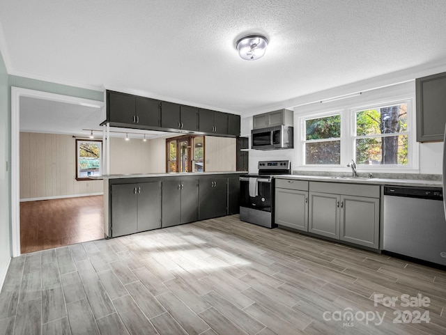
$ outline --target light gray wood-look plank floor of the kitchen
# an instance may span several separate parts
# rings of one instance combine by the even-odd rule
[[[444,335],[445,307],[446,272],[233,215],[13,258],[0,334]]]

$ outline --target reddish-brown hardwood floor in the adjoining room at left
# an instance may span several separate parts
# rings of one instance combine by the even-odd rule
[[[22,254],[101,238],[104,238],[103,196],[20,203]]]

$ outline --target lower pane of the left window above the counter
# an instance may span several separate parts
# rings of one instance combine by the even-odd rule
[[[305,143],[305,164],[340,164],[341,141]]]

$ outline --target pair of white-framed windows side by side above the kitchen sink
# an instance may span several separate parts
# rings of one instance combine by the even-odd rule
[[[413,100],[345,107],[300,117],[301,166],[414,169]]]

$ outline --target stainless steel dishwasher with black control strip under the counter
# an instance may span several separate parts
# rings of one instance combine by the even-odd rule
[[[383,249],[446,265],[441,187],[384,187]]]

